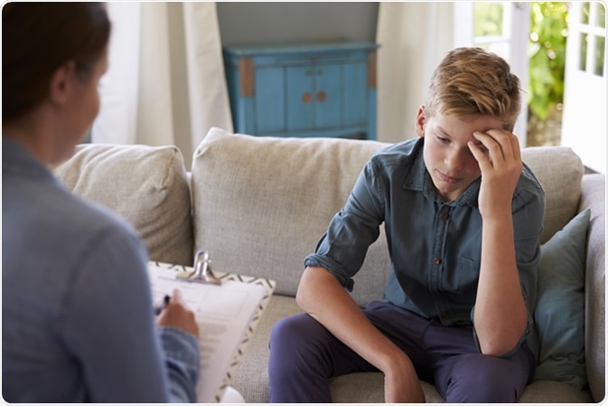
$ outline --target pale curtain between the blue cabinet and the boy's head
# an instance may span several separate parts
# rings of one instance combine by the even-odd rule
[[[381,2],[379,5],[378,139],[416,137],[416,111],[436,65],[454,47],[453,4]]]

